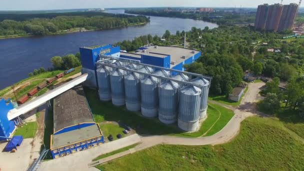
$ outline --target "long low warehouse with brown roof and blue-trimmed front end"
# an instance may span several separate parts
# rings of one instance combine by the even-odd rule
[[[53,102],[53,134],[50,151],[53,158],[69,155],[104,143],[84,96],[82,85],[60,94]]]

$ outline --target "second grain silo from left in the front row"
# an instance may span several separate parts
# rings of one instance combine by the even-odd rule
[[[118,68],[113,68],[110,72],[112,103],[117,106],[125,103],[123,74],[124,71]]]

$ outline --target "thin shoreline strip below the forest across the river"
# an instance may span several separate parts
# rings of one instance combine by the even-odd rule
[[[147,24],[148,22],[140,22],[140,23],[130,23],[126,26],[119,26],[119,27],[109,27],[109,28],[97,28],[97,29],[85,29],[85,30],[80,30],[81,28],[71,28],[74,30],[71,31],[64,31],[64,30],[59,30],[59,31],[63,31],[63,32],[55,32],[55,33],[51,33],[51,34],[46,34],[46,35],[40,35],[40,36],[48,36],[48,35],[60,35],[60,34],[68,34],[68,33],[74,33],[74,32],[86,32],[86,31],[96,31],[96,30],[104,30],[104,29],[112,29],[112,28],[125,28],[128,26],[136,26],[136,25],[144,25]],[[0,36],[0,39],[9,39],[9,38],[20,38],[20,37],[34,37],[37,35],[7,35],[7,36]]]

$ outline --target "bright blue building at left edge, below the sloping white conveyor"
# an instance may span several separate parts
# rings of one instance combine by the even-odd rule
[[[15,129],[14,122],[7,119],[7,112],[12,108],[13,105],[10,101],[6,102],[4,98],[0,99],[0,136],[9,137]]]

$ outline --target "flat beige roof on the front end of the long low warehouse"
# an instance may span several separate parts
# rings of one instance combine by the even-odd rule
[[[68,144],[76,143],[96,136],[100,136],[101,132],[97,124],[82,127],[72,131],[53,135],[51,148],[58,148]]]

